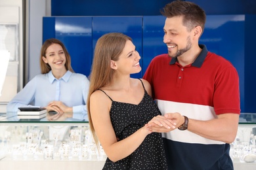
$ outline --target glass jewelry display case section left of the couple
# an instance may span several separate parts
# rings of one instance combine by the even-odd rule
[[[0,169],[102,169],[106,154],[96,148],[89,123],[49,121],[0,114]]]

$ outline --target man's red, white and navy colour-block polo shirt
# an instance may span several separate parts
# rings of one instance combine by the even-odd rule
[[[152,59],[143,78],[150,82],[161,113],[180,112],[196,120],[211,120],[223,113],[240,114],[236,69],[230,61],[209,52],[206,46],[200,45],[200,48],[202,52],[194,63],[184,67],[178,63],[177,58],[170,58],[168,54]],[[205,139],[179,129],[163,133],[163,139],[167,161],[179,161],[179,165],[193,163],[194,168],[198,169],[207,169],[220,163],[218,161],[221,159],[227,159],[230,164],[229,156],[224,156],[228,154],[229,145],[221,141]]]

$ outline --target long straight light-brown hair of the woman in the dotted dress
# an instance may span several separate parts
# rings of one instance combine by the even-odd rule
[[[111,60],[117,61],[119,59],[127,40],[132,41],[131,37],[123,33],[107,33],[102,35],[96,42],[91,75],[89,76],[90,88],[87,99],[87,111],[91,132],[97,145],[98,138],[96,137],[95,128],[91,119],[90,97],[93,92],[104,86],[108,86],[112,81],[114,70],[110,67]],[[98,104],[100,105],[100,103]]]

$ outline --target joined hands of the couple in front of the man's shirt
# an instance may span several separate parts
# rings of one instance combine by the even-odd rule
[[[168,132],[181,126],[184,117],[179,112],[167,113],[164,116],[156,116],[150,122],[148,127],[155,132]]]

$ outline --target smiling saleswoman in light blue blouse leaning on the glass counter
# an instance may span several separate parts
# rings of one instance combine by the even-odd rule
[[[18,107],[45,107],[60,114],[81,112],[75,117],[88,120],[86,99],[89,80],[74,73],[70,54],[58,39],[47,39],[41,47],[41,74],[35,76],[7,105],[7,112]],[[77,114],[74,114],[77,115]],[[74,117],[73,117],[74,118]]]

